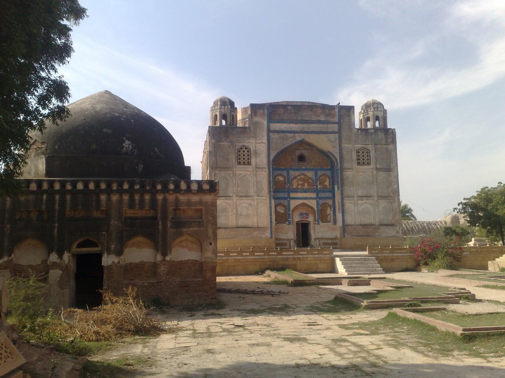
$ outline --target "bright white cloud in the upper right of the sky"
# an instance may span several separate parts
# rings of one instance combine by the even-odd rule
[[[337,91],[336,100],[360,104],[372,96],[398,109],[486,87],[505,76],[504,20],[505,2],[459,2],[447,9],[446,22],[438,30],[411,41],[412,47],[381,36],[384,46],[356,72],[354,80]],[[449,50],[443,44],[450,38],[461,43],[462,56],[475,55],[466,67],[460,67],[457,55],[448,57],[452,67],[438,65],[430,56],[433,50]]]

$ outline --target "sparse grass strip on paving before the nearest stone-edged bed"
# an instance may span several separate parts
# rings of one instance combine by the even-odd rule
[[[425,314],[425,313],[423,313]],[[504,334],[465,335],[458,337],[442,332],[423,322],[402,318],[393,312],[378,321],[352,323],[340,327],[384,336],[384,342],[395,348],[409,348],[426,356],[466,354],[479,358],[505,357]]]

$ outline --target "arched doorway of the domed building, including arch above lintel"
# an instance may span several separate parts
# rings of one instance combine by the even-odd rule
[[[79,308],[92,308],[102,304],[104,267],[102,247],[89,238],[77,241],[72,247],[72,292],[71,303]]]

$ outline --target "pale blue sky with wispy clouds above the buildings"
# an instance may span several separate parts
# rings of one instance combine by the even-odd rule
[[[505,181],[503,0],[80,0],[70,102],[109,90],[160,121],[191,175],[213,101],[361,105],[396,129],[399,190],[437,220]]]

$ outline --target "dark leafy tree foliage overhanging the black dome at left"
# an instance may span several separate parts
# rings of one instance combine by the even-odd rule
[[[29,133],[69,116],[70,90],[58,67],[73,53],[78,0],[0,0],[0,197],[17,194]]]

